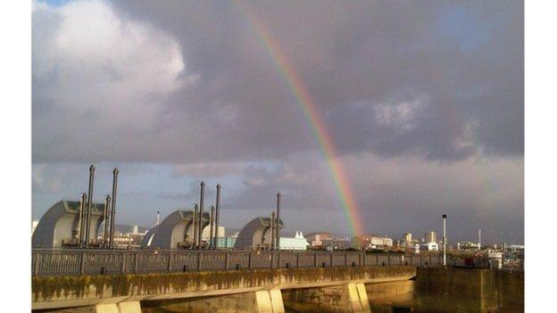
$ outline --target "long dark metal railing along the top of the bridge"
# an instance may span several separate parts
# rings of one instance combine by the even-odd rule
[[[34,276],[110,275],[245,268],[439,266],[442,256],[360,251],[33,250]]]

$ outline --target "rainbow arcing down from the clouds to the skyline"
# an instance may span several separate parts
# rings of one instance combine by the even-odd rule
[[[270,36],[269,30],[265,28],[262,21],[257,19],[245,4],[242,4],[240,1],[237,1],[236,4],[239,11],[245,16],[245,19],[249,21],[251,28],[254,29],[255,37],[269,54],[270,60],[284,79],[294,95],[296,103],[303,112],[303,117],[307,120],[312,135],[315,137],[327,161],[328,171],[335,185],[337,199],[344,210],[345,219],[352,235],[363,235],[362,218],[359,218],[360,210],[356,202],[354,202],[350,181],[346,175],[345,167],[340,161],[333,139],[320,116],[317,105],[313,102],[307,88],[303,85],[302,79],[296,74],[287,56],[280,49],[280,45]]]

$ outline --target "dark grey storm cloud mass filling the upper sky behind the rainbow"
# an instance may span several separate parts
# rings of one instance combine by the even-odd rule
[[[434,160],[461,159],[478,149],[522,155],[520,2],[245,5],[287,54],[341,153],[419,153]],[[87,83],[87,72],[63,80],[53,79],[62,75],[63,66],[40,75],[34,71],[35,161],[259,160],[317,147],[241,5],[118,1],[112,6],[121,21],[145,24],[158,29],[149,33],[175,40],[183,69],[166,77],[145,72],[169,85],[145,95],[100,88],[88,98],[67,91],[64,97],[52,96],[67,90],[69,81]],[[60,21],[52,13],[36,15],[33,40],[39,54],[48,34],[60,35]],[[451,18],[468,30],[451,28]],[[118,43],[113,49],[118,51]],[[70,58],[56,50],[52,54],[60,63]],[[41,68],[35,64],[49,61],[34,57],[34,70]],[[116,81],[130,79],[138,88],[149,82],[127,75],[126,66],[141,68],[140,63],[89,65],[82,70]],[[104,92],[108,95],[99,95]],[[119,99],[131,110],[112,109],[121,105]],[[376,107],[419,99],[424,102],[420,117],[408,117],[411,131],[379,121]],[[368,105],[354,109],[354,103]],[[95,132],[87,131],[91,128]]]

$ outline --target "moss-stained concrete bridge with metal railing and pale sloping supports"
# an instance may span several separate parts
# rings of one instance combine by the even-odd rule
[[[285,312],[282,291],[322,311],[370,312],[366,286],[409,280],[438,256],[359,251],[33,251],[32,309]],[[191,301],[195,300],[195,301]],[[286,301],[294,301],[287,299]]]

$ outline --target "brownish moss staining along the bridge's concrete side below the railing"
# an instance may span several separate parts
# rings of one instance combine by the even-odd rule
[[[107,276],[34,276],[32,299],[64,301],[412,276],[412,267],[280,268]]]

